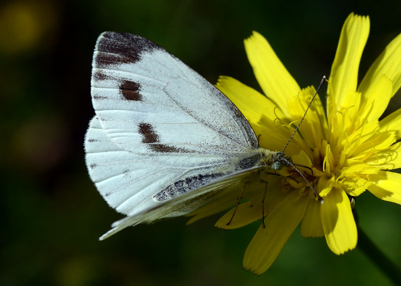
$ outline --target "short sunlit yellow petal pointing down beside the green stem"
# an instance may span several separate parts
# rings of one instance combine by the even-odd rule
[[[324,198],[320,214],[331,251],[339,255],[355,248],[358,239],[356,224],[349,199],[341,188],[331,190]]]

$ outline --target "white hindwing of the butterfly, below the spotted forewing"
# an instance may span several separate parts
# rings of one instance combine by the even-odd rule
[[[117,211],[132,215],[160,202],[219,180],[229,163],[226,158],[195,154],[153,156],[136,154],[118,147],[102,128],[91,120],[85,140],[86,163],[99,192]],[[196,156],[196,157],[195,157]]]

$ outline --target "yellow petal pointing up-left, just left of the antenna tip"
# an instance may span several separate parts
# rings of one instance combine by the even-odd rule
[[[287,100],[301,90],[266,39],[257,32],[244,41],[248,60],[266,96],[287,112]]]

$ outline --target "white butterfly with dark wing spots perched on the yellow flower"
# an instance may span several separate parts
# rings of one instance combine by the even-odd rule
[[[283,152],[259,148],[223,93],[147,39],[101,34],[92,67],[86,164],[107,203],[127,215],[100,239],[188,214],[261,170],[291,164]]]

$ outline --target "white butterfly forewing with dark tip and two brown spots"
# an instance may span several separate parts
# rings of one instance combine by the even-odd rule
[[[100,35],[92,102],[109,137],[128,151],[221,155],[258,147],[249,123],[226,96],[139,36]]]

